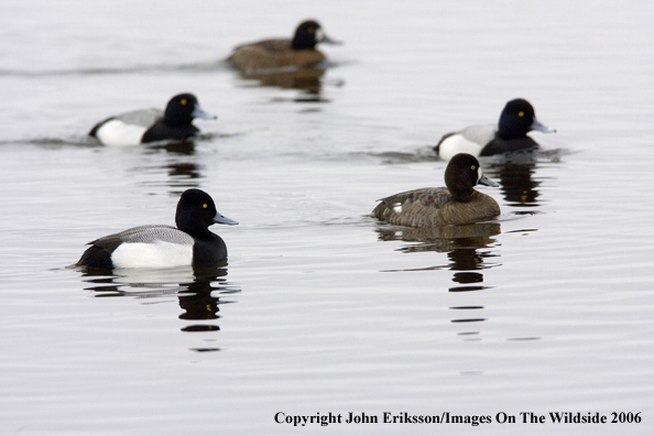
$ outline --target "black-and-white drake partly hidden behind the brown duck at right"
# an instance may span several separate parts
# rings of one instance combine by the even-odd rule
[[[527,100],[516,98],[504,106],[497,128],[493,124],[467,127],[461,131],[443,137],[434,150],[438,157],[448,161],[457,153],[490,156],[537,148],[536,141],[526,135],[531,130],[545,133],[556,132],[536,119],[534,108]]]

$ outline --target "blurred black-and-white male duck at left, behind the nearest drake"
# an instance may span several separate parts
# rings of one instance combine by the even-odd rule
[[[88,133],[105,145],[137,145],[164,140],[184,140],[199,129],[194,118],[215,120],[205,111],[193,94],[179,94],[168,101],[165,112],[160,109],[140,109],[107,118]]]

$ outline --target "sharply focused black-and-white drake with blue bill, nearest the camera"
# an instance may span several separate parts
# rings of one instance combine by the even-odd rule
[[[187,189],[177,203],[177,228],[141,226],[89,242],[76,266],[166,268],[197,265],[227,259],[222,239],[209,231],[214,222],[237,225],[216,210],[211,197],[200,189]]]

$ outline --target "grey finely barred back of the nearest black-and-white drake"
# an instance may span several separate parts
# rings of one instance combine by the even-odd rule
[[[109,252],[113,252],[121,243],[156,243],[170,242],[176,244],[193,246],[194,239],[172,226],[140,226],[134,227],[120,233],[109,235],[92,242],[91,246],[99,247]]]

